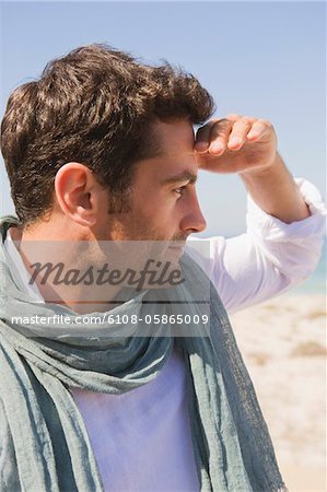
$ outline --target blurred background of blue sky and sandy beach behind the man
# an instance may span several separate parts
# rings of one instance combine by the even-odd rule
[[[2,1],[0,15],[1,117],[11,91],[38,78],[47,61],[80,45],[108,43],[147,62],[166,59],[194,73],[213,95],[217,117],[238,113],[270,119],[292,174],[326,195],[324,2]],[[0,215],[13,213],[2,161],[0,183]],[[237,176],[201,172],[198,194],[208,222],[202,236],[245,231],[246,194]],[[290,490],[326,490],[324,258],[292,297],[247,313],[258,320],[252,321],[252,331],[242,328],[242,314],[235,318]],[[268,332],[256,331],[262,325],[270,327]],[[275,347],[287,347],[289,337],[285,352],[265,349],[271,327]],[[302,462],[308,475],[300,479]]]

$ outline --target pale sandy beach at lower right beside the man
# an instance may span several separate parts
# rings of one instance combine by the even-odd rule
[[[231,321],[289,491],[326,491],[325,297],[284,294]]]

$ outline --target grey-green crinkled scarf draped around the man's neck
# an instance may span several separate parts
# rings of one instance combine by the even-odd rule
[[[92,326],[84,337],[33,336],[37,327],[13,325],[11,317],[65,314],[73,318],[77,314],[65,306],[37,304],[20,291],[2,244],[14,223],[8,218],[2,222],[0,246],[1,491],[103,491],[87,432],[69,388],[117,395],[129,391],[157,376],[174,343],[179,344],[185,360],[200,490],[287,491],[254,387],[212,284],[207,336],[196,336],[197,327],[192,327],[192,336],[183,337],[168,336],[166,330],[162,337],[138,337],[138,327],[129,337],[106,336],[105,330],[112,333],[115,329],[113,325],[102,327],[101,338],[94,337]],[[192,286],[208,278],[186,255],[183,270],[188,281],[174,288],[174,298],[178,295],[189,302],[178,305],[178,313],[197,313]],[[155,295],[165,298],[161,308],[171,314],[176,307],[168,291]],[[139,313],[149,298],[149,291],[142,292],[110,314],[117,309]],[[157,305],[152,309],[154,313]]]

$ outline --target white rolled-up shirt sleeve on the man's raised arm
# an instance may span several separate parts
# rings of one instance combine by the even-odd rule
[[[310,207],[310,218],[285,224],[260,210],[248,196],[245,234],[199,239],[210,241],[206,271],[230,313],[280,294],[314,272],[326,212],[315,186],[305,179],[296,183]]]

